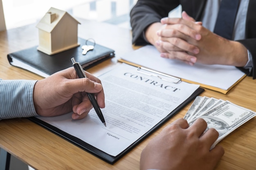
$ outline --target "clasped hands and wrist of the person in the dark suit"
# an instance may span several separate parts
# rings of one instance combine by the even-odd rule
[[[248,61],[243,44],[216,35],[184,11],[182,18],[162,18],[161,23],[151,24],[145,35],[161,57],[189,65],[198,62],[242,67]]]

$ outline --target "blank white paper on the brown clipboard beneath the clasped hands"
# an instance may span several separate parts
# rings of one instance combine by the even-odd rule
[[[160,53],[152,45],[147,45],[121,56],[128,62],[151,68],[161,73],[198,82],[223,90],[228,90],[245,75],[235,66],[204,65],[196,63],[194,66],[178,60],[160,57]]]

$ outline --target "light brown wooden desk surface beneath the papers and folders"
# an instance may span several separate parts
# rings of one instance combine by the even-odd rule
[[[117,64],[117,59],[122,54],[134,50],[131,45],[130,30],[106,23],[79,21],[82,23],[79,27],[81,38],[94,38],[98,44],[116,51],[115,58],[90,68],[88,70],[90,73],[97,75],[107,71],[110,66]],[[35,24],[0,32],[0,78],[42,79],[34,73],[9,65],[7,61],[7,53],[26,49],[37,44],[38,33]],[[227,95],[206,90],[201,96],[229,100],[256,111],[255,81],[251,77],[246,77]],[[39,170],[138,170],[141,150],[148,141],[155,137],[167,124],[177,118],[184,117],[189,106],[186,106],[168,123],[164,124],[114,165],[98,159],[26,118],[0,121],[0,147]],[[225,155],[218,163],[216,170],[255,170],[256,118],[251,119],[232,132],[220,142],[220,145],[225,148]]]

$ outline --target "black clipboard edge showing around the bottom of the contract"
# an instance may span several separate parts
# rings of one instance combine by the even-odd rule
[[[149,135],[151,135],[155,130],[160,128],[166,121],[171,119],[174,115],[176,115],[182,108],[184,108],[187,104],[189,104],[193,99],[195,99],[196,96],[200,95],[204,91],[203,88],[198,88],[188,99],[186,99],[180,106],[175,108],[170,114],[168,114],[164,119],[159,121],[158,124],[156,124],[153,128],[151,128],[148,132],[146,132],[143,136],[141,136],[137,141],[135,141],[133,144],[128,146],[125,150],[123,150],[119,155],[112,156],[107,154],[106,152],[103,152],[99,150],[98,148],[95,148],[94,146],[91,146],[90,144],[86,143],[85,141],[82,141],[81,139],[74,137],[67,132],[64,132],[63,130],[60,130],[56,128],[55,126],[52,126],[51,124],[46,123],[45,121],[42,121],[36,117],[29,117],[28,119],[33,121],[34,123],[46,128],[47,130],[53,132],[54,134],[62,137],[63,139],[66,139],[67,141],[71,142],[72,144],[80,147],[81,149],[91,153],[92,155],[102,159],[103,161],[106,161],[107,163],[114,164],[117,162],[121,157],[126,155],[130,150],[132,150],[135,146],[137,146],[141,141],[146,139]]]

